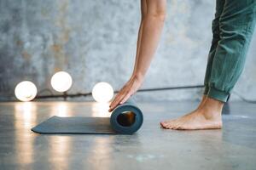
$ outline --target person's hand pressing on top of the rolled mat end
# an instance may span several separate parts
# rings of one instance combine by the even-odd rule
[[[135,94],[138,88],[141,87],[143,80],[137,77],[131,77],[131,79],[125,83],[125,86],[120,89],[119,94],[115,96],[111,104],[109,105],[108,111],[113,111],[113,109],[119,105],[125,103],[131,95]]]

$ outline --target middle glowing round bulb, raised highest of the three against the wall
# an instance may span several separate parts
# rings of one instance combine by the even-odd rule
[[[57,92],[66,92],[72,86],[72,77],[65,71],[59,71],[51,77],[50,84]]]

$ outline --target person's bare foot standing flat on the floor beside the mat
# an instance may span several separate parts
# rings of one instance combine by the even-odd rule
[[[164,128],[177,130],[217,129],[222,127],[223,103],[216,99],[205,99],[197,110],[177,119],[160,122]]]

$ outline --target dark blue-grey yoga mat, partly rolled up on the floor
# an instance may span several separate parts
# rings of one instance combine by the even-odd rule
[[[132,134],[143,125],[143,112],[132,99],[117,106],[110,117],[59,117],[33,127],[35,133],[90,133],[90,134]]]

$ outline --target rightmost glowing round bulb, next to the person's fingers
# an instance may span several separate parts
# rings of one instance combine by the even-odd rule
[[[92,88],[92,97],[97,102],[108,102],[113,98],[113,88],[108,82],[98,82]]]

